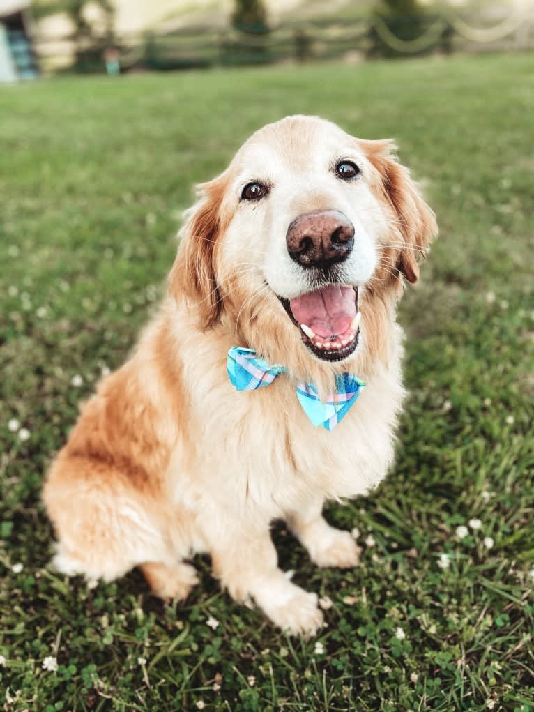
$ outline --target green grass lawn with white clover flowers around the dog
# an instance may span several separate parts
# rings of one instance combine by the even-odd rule
[[[283,568],[333,601],[308,642],[234,604],[203,559],[184,604],[137,572],[89,589],[49,571],[39,499],[78,402],[164,292],[191,184],[291,112],[396,137],[441,226],[400,310],[397,462],[328,509],[360,530],[362,565],[317,570],[274,530]],[[4,710],[533,712],[533,113],[526,55],[0,90]]]

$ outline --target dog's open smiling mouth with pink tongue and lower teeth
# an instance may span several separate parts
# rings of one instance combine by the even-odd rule
[[[330,284],[291,300],[280,300],[315,356],[324,361],[342,361],[355,350],[361,317],[357,288]]]

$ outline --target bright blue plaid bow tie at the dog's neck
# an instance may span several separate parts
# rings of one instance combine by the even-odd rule
[[[256,357],[253,349],[232,346],[228,352],[228,375],[238,391],[253,391],[268,386],[281,373],[283,366],[269,366],[263,358]],[[297,382],[297,397],[310,421],[327,430],[335,428],[355,403],[365,386],[359,378],[344,373],[335,377],[335,393],[322,401],[312,384]]]

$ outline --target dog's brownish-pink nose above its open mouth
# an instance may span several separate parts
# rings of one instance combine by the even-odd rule
[[[354,225],[338,210],[299,215],[288,227],[286,243],[291,259],[303,267],[328,267],[350,255]]]

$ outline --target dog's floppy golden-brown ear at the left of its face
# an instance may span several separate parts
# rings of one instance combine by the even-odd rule
[[[224,229],[221,203],[225,189],[224,174],[199,186],[199,199],[187,211],[185,224],[179,231],[178,253],[169,275],[169,294],[174,299],[186,296],[193,300],[204,329],[219,320],[222,310],[215,256]]]

